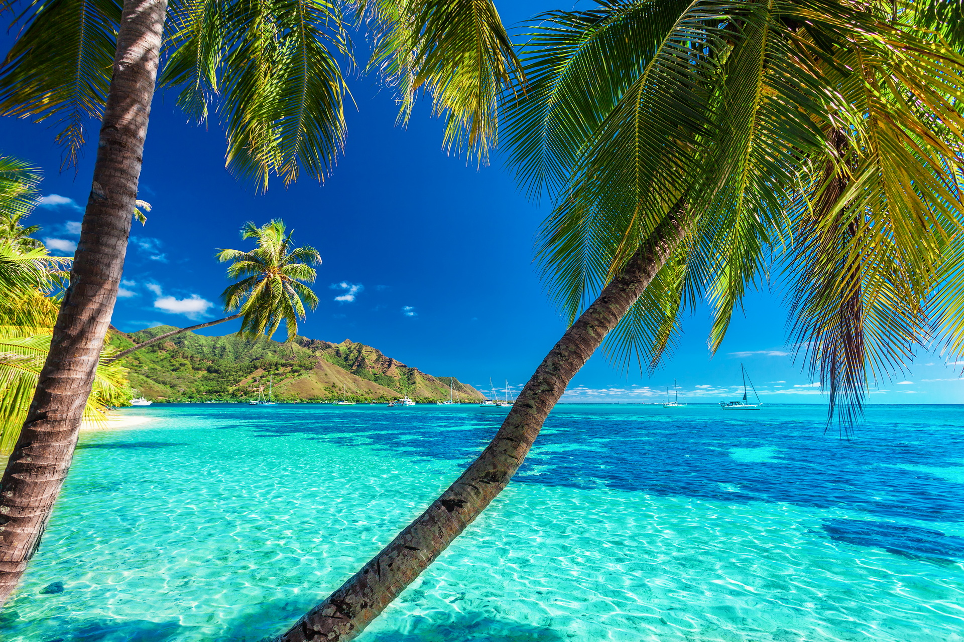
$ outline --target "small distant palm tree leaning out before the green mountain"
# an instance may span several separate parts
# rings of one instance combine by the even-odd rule
[[[281,321],[284,321],[288,341],[293,340],[298,334],[298,320],[305,320],[305,304],[312,310],[318,305],[318,296],[303,282],[314,281],[315,270],[311,265],[320,265],[321,256],[314,247],[308,245],[291,249],[292,234],[293,230],[285,234],[284,221],[281,218],[275,218],[261,227],[256,227],[252,221],[246,222],[241,227],[241,238],[254,239],[257,247],[249,252],[222,249],[217,255],[221,262],[232,262],[228,266],[228,278],[244,277],[221,293],[221,298],[225,301],[225,311],[238,312],[217,321],[165,332],[143,344],[118,352],[106,363],[113,363],[135,350],[170,339],[182,332],[200,330],[235,319],[241,319],[238,334],[265,334],[268,337],[273,336],[281,326]]]

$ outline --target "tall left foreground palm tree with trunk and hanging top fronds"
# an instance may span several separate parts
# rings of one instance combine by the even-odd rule
[[[352,17],[375,40],[370,68],[400,91],[435,99],[446,141],[484,158],[500,89],[519,61],[492,0],[373,0]],[[0,3],[9,9],[9,2]],[[76,163],[84,121],[100,119],[94,180],[51,349],[3,479],[0,603],[37,549],[67,475],[86,399],[117,300],[137,201],[162,42],[165,87],[228,134],[228,167],[266,189],[305,169],[317,179],[344,140],[339,60],[352,64],[340,3],[295,0],[123,0],[30,3],[0,68],[0,115],[60,119],[65,163]],[[165,22],[171,25],[163,39]],[[42,456],[25,453],[42,452]]]

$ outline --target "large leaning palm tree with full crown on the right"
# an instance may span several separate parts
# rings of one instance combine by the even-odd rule
[[[656,366],[709,300],[715,349],[769,253],[844,422],[929,321],[953,318],[961,340],[964,287],[928,296],[964,270],[964,58],[899,9],[610,0],[540,16],[510,158],[556,203],[538,256],[575,322],[465,473],[281,640],[358,635],[507,485],[607,335],[612,357]]]

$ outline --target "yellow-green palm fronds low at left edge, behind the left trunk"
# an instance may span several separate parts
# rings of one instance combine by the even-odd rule
[[[0,325],[0,452],[13,449],[20,427],[27,418],[40,370],[50,350],[52,327]],[[108,359],[113,348],[105,348],[101,361]],[[129,399],[127,370],[120,364],[101,363],[94,373],[94,390],[84,407],[84,419],[104,421],[108,406]]]

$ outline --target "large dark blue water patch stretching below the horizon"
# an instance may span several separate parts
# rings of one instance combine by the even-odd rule
[[[264,435],[301,434],[339,446],[364,443],[407,457],[468,463],[502,419],[487,410],[385,409],[373,423],[369,410],[379,412],[326,413],[321,422],[317,415],[304,423],[258,422],[256,429]],[[776,408],[733,418],[720,412],[700,409],[667,416],[652,406],[557,407],[516,482],[570,487],[602,482],[657,496],[788,502],[892,519],[964,520],[964,485],[898,467],[964,464],[960,410],[950,415],[951,422],[936,423],[899,424],[900,413],[891,413],[891,422],[868,421],[849,442],[824,436],[820,414],[800,419]],[[763,448],[772,453],[761,461],[732,452]],[[949,492],[949,485],[959,490]]]

